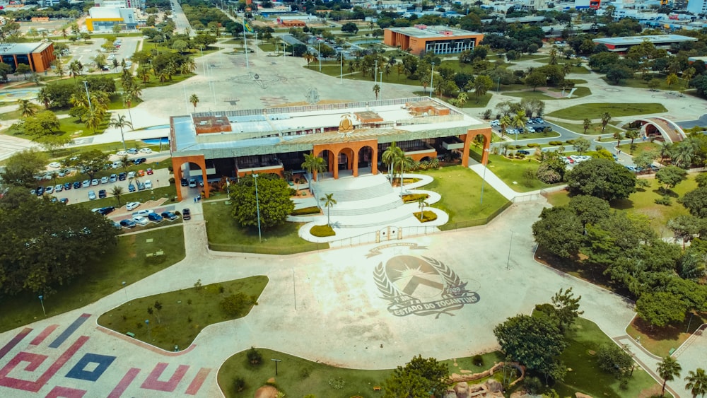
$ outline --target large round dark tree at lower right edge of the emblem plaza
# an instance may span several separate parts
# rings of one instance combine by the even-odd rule
[[[556,373],[558,357],[567,346],[560,329],[546,317],[516,315],[493,328],[501,351],[547,377]]]

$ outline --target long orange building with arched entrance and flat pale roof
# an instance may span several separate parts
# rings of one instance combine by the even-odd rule
[[[302,171],[305,154],[321,157],[325,177],[377,174],[382,153],[395,142],[413,160],[460,156],[489,124],[428,97],[327,105],[201,112],[170,118],[175,178],[207,182],[255,173]],[[488,151],[484,151],[486,163]],[[316,178],[315,174],[315,178]],[[206,197],[209,185],[204,184]],[[177,196],[182,199],[180,189]]]

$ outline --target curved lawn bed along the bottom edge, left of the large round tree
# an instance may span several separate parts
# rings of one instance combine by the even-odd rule
[[[371,350],[380,349],[378,347],[368,347]],[[277,388],[284,392],[287,397],[303,397],[307,394],[314,394],[315,397],[382,397],[382,392],[374,392],[373,387],[380,387],[385,379],[390,377],[392,369],[382,370],[361,370],[336,368],[320,362],[308,361],[298,356],[291,356],[279,351],[269,349],[257,349],[263,361],[260,365],[250,365],[247,360],[247,350],[236,353],[226,360],[218,370],[218,386],[226,397],[254,397],[255,390],[265,385],[271,377],[275,379]],[[316,351],[312,351],[316,355]],[[269,358],[281,359],[278,367],[278,375],[275,376],[275,368]],[[493,363],[503,361],[503,355],[498,351],[486,353],[482,356],[484,365],[479,367],[472,363],[472,358],[456,358],[455,360],[441,361],[446,363],[450,373],[461,374],[462,370],[469,370],[478,373],[490,368]],[[411,358],[401,361],[409,361]],[[456,363],[456,365],[454,365]],[[242,377],[245,380],[245,388],[241,392],[235,390],[235,380]],[[343,380],[343,387],[334,390],[329,385],[329,380]]]

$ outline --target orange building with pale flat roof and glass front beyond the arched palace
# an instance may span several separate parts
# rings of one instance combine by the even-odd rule
[[[411,54],[423,52],[434,54],[455,54],[473,49],[484,40],[483,33],[469,32],[448,26],[415,25],[407,28],[386,28],[383,43],[400,47]]]

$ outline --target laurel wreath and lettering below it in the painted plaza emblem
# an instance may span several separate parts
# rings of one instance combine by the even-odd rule
[[[464,306],[464,303],[452,303],[449,305],[439,305],[438,303],[442,303],[445,299],[449,298],[471,299],[471,302],[473,303],[476,303],[479,300],[479,295],[475,292],[468,291],[467,282],[462,282],[457,273],[450,267],[447,267],[443,262],[431,257],[422,256],[422,258],[428,262],[428,264],[430,264],[430,266],[433,267],[433,269],[435,269],[445,281],[445,291],[441,294],[442,300],[431,302],[434,304],[435,308],[425,308],[424,310],[418,308],[400,313],[400,310],[409,308],[410,305],[408,303],[414,303],[414,305],[417,305],[418,307],[421,305],[427,307],[430,303],[420,303],[418,299],[413,298],[410,295],[400,293],[385,274],[385,267],[382,262],[378,263],[378,266],[373,269],[373,281],[375,282],[375,286],[378,287],[378,291],[382,293],[381,298],[390,301],[388,310],[392,312],[393,315],[436,315],[436,318],[440,317],[442,314],[454,316],[454,314],[450,313],[450,311],[459,310]],[[453,289],[450,289],[450,287],[453,287]]]

